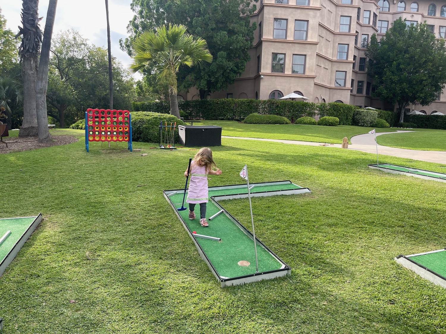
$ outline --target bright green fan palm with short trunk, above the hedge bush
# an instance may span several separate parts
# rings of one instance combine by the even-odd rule
[[[206,41],[194,38],[182,24],[161,25],[157,32],[147,31],[133,43],[134,57],[130,70],[136,73],[153,67],[157,81],[169,86],[170,114],[180,118],[177,100],[177,73],[180,65],[192,67],[202,61],[211,62]]]

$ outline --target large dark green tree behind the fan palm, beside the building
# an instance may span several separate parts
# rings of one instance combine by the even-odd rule
[[[244,72],[251,59],[256,24],[250,24],[249,14],[256,10],[251,0],[133,0],[137,13],[128,26],[132,35],[120,41],[121,48],[132,55],[132,40],[141,32],[153,30],[164,22],[183,24],[188,33],[206,40],[213,56],[211,64],[202,67],[183,67],[178,73],[180,89],[195,86],[200,98],[209,93],[226,90]],[[146,75],[153,71],[148,70]]]

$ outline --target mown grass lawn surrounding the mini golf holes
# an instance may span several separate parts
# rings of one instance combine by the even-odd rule
[[[267,128],[234,129],[223,135]],[[277,132],[264,135],[287,135]],[[196,151],[87,153],[83,131],[51,133],[81,139],[0,155],[0,218],[44,217],[0,277],[4,333],[446,333],[445,289],[393,260],[445,247],[446,183],[369,169],[376,155],[359,151],[222,138],[212,150],[223,174],[209,186],[243,183],[248,164],[250,183],[312,192],[252,198],[256,236],[291,276],[221,289],[162,194],[184,187]],[[249,228],[248,199],[222,205]]]

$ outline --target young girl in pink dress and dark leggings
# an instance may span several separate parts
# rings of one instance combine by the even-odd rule
[[[200,204],[200,225],[207,227],[206,221],[206,203],[207,197],[207,175],[220,175],[222,171],[217,168],[216,171],[212,169],[215,166],[215,162],[212,159],[212,151],[203,147],[194,156],[194,160],[190,164],[190,183],[189,190],[187,191],[186,203],[189,203],[189,219],[195,219],[195,204]],[[187,177],[188,171],[184,172],[184,176]]]

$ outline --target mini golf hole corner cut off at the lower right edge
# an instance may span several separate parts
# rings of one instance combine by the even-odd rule
[[[446,288],[446,249],[399,255],[395,260],[421,277]]]

